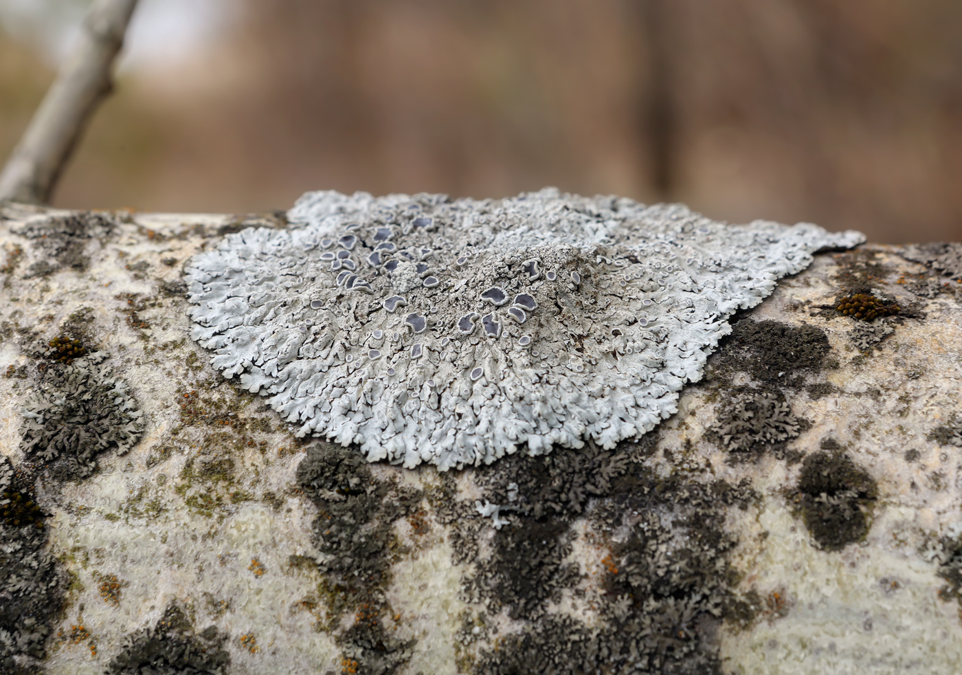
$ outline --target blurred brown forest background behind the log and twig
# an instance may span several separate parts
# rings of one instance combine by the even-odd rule
[[[0,158],[86,4],[0,0]],[[962,240],[962,2],[141,0],[55,204],[545,185]]]

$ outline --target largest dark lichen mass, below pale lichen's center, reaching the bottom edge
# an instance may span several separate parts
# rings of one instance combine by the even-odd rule
[[[749,604],[732,589],[725,532],[728,509],[754,500],[747,485],[661,478],[646,458],[656,440],[594,445],[568,453],[502,459],[479,475],[484,497],[510,521],[494,532],[490,557],[477,558],[468,599],[524,622],[499,636],[468,672],[721,673],[717,631]],[[584,597],[586,577],[566,560],[587,520],[607,549],[599,584],[606,596],[591,623],[552,605]],[[476,521],[456,524],[476,530]],[[474,536],[478,536],[477,532]],[[455,546],[459,538],[452,538]],[[583,545],[583,544],[582,544]],[[750,613],[750,611],[748,612]],[[740,618],[741,617],[741,618]]]

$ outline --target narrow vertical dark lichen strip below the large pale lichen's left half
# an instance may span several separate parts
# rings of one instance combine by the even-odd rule
[[[328,625],[342,614],[354,623],[335,640],[352,672],[390,675],[411,658],[414,640],[392,636],[383,617],[391,583],[393,523],[418,510],[421,492],[375,480],[364,457],[328,443],[314,443],[297,465],[297,484],[317,506],[313,525],[317,569],[328,584]]]

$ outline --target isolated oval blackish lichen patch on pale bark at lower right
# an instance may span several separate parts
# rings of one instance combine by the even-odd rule
[[[865,538],[877,496],[875,480],[830,439],[802,462],[796,503],[808,532],[826,551]]]

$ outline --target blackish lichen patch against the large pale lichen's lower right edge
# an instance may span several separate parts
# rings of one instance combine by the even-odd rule
[[[760,382],[797,387],[804,375],[831,365],[830,351],[825,331],[813,325],[743,319],[709,359],[708,376],[744,371]]]

